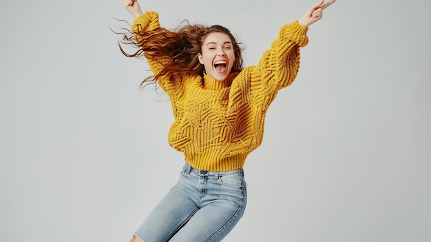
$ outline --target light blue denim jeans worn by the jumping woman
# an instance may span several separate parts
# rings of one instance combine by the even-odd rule
[[[240,221],[246,201],[242,168],[208,172],[186,163],[135,236],[146,242],[221,241]]]

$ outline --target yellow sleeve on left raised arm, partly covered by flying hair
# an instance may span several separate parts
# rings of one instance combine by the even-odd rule
[[[148,31],[157,30],[159,28],[161,27],[158,21],[158,13],[147,11],[143,15],[141,15],[140,17],[134,20],[134,25],[132,26],[132,32],[134,33],[136,41],[139,42],[142,34]],[[145,52],[144,54],[145,54],[145,59],[147,59],[149,68],[151,69],[151,72],[153,72],[154,75],[157,75],[158,73],[160,73],[162,68],[165,65],[167,65],[167,63],[171,62],[171,58],[167,56],[155,58],[154,55],[151,55],[151,52]],[[173,80],[174,80],[174,77],[171,77],[171,79],[167,77],[159,77],[157,79],[162,90],[167,92],[169,96],[171,96],[171,94],[173,94],[176,91],[176,83]]]

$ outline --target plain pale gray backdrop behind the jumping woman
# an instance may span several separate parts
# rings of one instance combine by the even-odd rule
[[[166,28],[221,24],[256,65],[317,0],[140,1]],[[174,185],[166,94],[109,28],[121,0],[1,1],[0,241],[127,241]],[[431,241],[429,1],[338,0],[245,165],[224,241]]]

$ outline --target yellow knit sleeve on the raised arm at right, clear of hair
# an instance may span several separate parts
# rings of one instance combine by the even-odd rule
[[[281,88],[291,85],[299,70],[299,48],[308,43],[308,28],[298,21],[284,25],[259,64],[249,70],[252,99],[268,108]]]

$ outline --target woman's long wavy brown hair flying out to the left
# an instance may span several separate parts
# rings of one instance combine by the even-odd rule
[[[185,26],[180,26],[174,31],[166,28],[157,28],[151,31],[143,31],[137,26],[136,33],[123,34],[123,41],[120,41],[121,52],[126,57],[147,58],[163,62],[162,70],[151,77],[147,77],[141,83],[141,87],[147,82],[156,82],[158,77],[170,77],[172,74],[200,74],[203,75],[204,66],[199,63],[198,53],[202,52],[202,43],[207,36],[212,32],[222,32],[227,34],[232,41],[233,50],[235,50],[235,62],[231,72],[240,72],[243,69],[242,49],[231,34],[231,32],[223,26],[203,26],[199,24],[191,25],[188,21]],[[131,45],[137,48],[136,52],[127,53],[123,48],[124,45]]]

